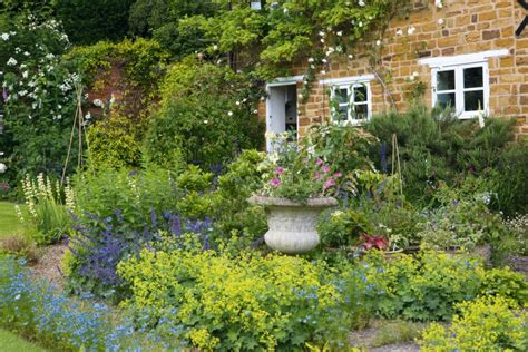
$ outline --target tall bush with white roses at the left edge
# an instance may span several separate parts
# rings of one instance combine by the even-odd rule
[[[70,47],[68,37],[59,22],[29,16],[16,20],[8,31],[2,28],[0,43],[6,124],[0,149],[10,155],[11,178],[23,173],[59,174],[79,81],[78,75],[61,62],[61,55]]]

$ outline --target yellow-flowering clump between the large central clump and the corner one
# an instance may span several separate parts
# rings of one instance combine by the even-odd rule
[[[478,295],[482,271],[475,260],[436,252],[390,261],[373,253],[365,266],[365,278],[377,287],[372,293],[382,293],[375,299],[378,313],[418,321],[449,320],[453,304]]]

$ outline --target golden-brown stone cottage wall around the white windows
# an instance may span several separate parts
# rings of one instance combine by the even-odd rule
[[[387,111],[393,101],[397,109],[403,111],[409,108],[409,94],[413,89],[409,78],[413,72],[419,75],[415,81],[426,84],[423,98],[431,106],[431,69],[420,65],[419,59],[507,49],[506,57],[488,61],[490,115],[518,117],[517,133],[528,137],[528,27],[520,37],[515,36],[526,11],[516,0],[444,0],[442,9],[436,8],[433,2],[430,0],[428,7],[412,11],[408,19],[394,19],[390,23],[379,47],[381,62],[375,68],[369,63],[370,57],[361,56],[361,50],[353,59],[332,59],[326,74],[317,75],[307,101],[299,106],[300,134],[304,135],[310,125],[330,117],[329,87],[324,87],[321,79],[374,71],[385,77],[383,72],[389,72],[391,78],[383,79],[387,91],[379,80],[370,82],[372,110],[374,114]],[[408,35],[410,27],[415,28],[412,35]],[[397,36],[399,30],[403,35]],[[303,75],[306,65],[294,66],[294,75]],[[297,89],[302,89],[302,82]],[[264,117],[265,104],[260,111]]]

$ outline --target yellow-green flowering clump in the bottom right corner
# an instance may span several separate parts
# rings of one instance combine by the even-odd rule
[[[528,313],[501,296],[479,297],[457,305],[450,327],[431,324],[419,342],[421,351],[526,351]]]

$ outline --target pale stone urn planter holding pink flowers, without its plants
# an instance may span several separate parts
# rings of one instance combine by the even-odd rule
[[[331,197],[311,198],[301,204],[286,198],[252,196],[251,204],[264,205],[268,231],[266,244],[286,254],[301,254],[314,250],[321,238],[315,228],[317,217],[327,207],[338,205]]]

